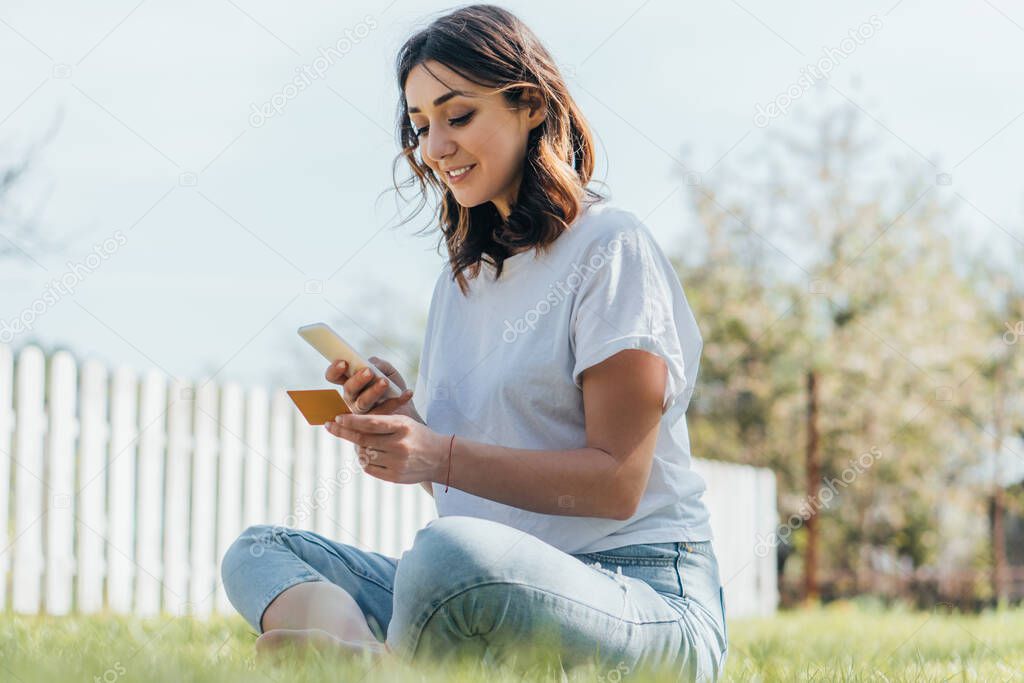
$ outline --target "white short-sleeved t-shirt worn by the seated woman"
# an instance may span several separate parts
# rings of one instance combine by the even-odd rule
[[[445,264],[434,286],[414,399],[431,429],[512,449],[586,447],[581,374],[631,348],[665,359],[668,410],[647,487],[627,520],[529,512],[434,483],[438,515],[493,519],[567,553],[710,540],[685,416],[702,340],[650,229],[602,202],[547,254],[520,252],[494,274],[484,263],[464,297]]]

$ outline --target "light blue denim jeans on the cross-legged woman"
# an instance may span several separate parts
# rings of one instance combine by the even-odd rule
[[[400,559],[312,531],[251,526],[221,563],[234,608],[262,632],[267,605],[309,581],[343,588],[399,656],[509,661],[529,640],[559,666],[597,661],[616,678],[641,667],[717,680],[728,649],[711,542],[651,543],[570,555],[486,519],[446,516]],[[534,640],[536,639],[536,640]]]

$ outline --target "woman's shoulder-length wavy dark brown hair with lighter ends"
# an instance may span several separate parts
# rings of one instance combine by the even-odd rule
[[[419,137],[409,117],[406,80],[417,65],[438,61],[463,78],[502,93],[509,104],[523,105],[524,91],[532,89],[547,108],[545,120],[529,132],[522,181],[508,219],[492,202],[463,207],[447,185],[417,159]],[[423,209],[430,190],[439,199],[436,213],[441,239],[447,246],[453,280],[463,295],[468,289],[464,270],[479,274],[486,257],[500,278],[505,259],[520,248],[546,250],[568,229],[585,202],[605,198],[587,187],[594,171],[594,142],[580,108],[569,95],[555,60],[522,22],[497,5],[459,7],[413,35],[398,50],[398,137],[401,160],[413,171],[395,190],[418,185]],[[414,215],[416,215],[414,214]],[[407,219],[408,220],[408,219]],[[402,221],[406,222],[406,221]],[[432,227],[431,225],[427,229]]]

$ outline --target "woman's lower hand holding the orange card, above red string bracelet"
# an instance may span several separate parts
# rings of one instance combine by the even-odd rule
[[[339,415],[324,426],[354,443],[362,471],[378,479],[420,483],[442,476],[449,437],[409,416]]]

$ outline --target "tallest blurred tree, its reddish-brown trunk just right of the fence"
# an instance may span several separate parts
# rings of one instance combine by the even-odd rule
[[[933,561],[943,494],[978,458],[956,387],[987,330],[953,211],[861,121],[828,111],[813,139],[771,138],[757,180],[694,186],[677,263],[705,338],[694,453],[775,470],[810,598],[819,563],[866,590],[882,564]]]

